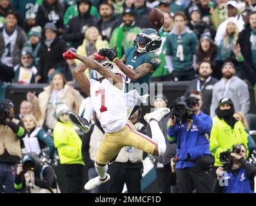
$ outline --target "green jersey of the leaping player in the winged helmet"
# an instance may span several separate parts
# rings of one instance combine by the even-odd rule
[[[133,70],[136,70],[141,64],[146,62],[152,64],[154,66],[154,70],[159,68],[161,64],[159,55],[153,52],[138,53],[134,46],[128,48],[124,55],[126,57],[126,66]],[[136,89],[140,95],[148,94],[152,74],[153,73],[148,73],[147,75],[133,81],[126,76],[126,92]]]

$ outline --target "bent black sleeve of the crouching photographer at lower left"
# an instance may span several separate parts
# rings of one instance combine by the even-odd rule
[[[43,171],[43,180],[35,178],[35,185],[41,188],[48,189],[54,182],[54,169],[52,167],[45,167]]]

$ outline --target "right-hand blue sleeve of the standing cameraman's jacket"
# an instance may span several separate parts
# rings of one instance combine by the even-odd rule
[[[200,133],[207,133],[210,135],[212,129],[212,118],[210,116],[207,115],[205,119],[202,119],[197,115],[193,115],[193,122],[199,129]]]

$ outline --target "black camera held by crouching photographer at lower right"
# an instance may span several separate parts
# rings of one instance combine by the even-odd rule
[[[229,171],[233,165],[231,153],[241,153],[241,144],[233,145],[232,151],[227,149],[226,152],[220,154],[220,160],[223,163],[223,168],[225,171]]]

